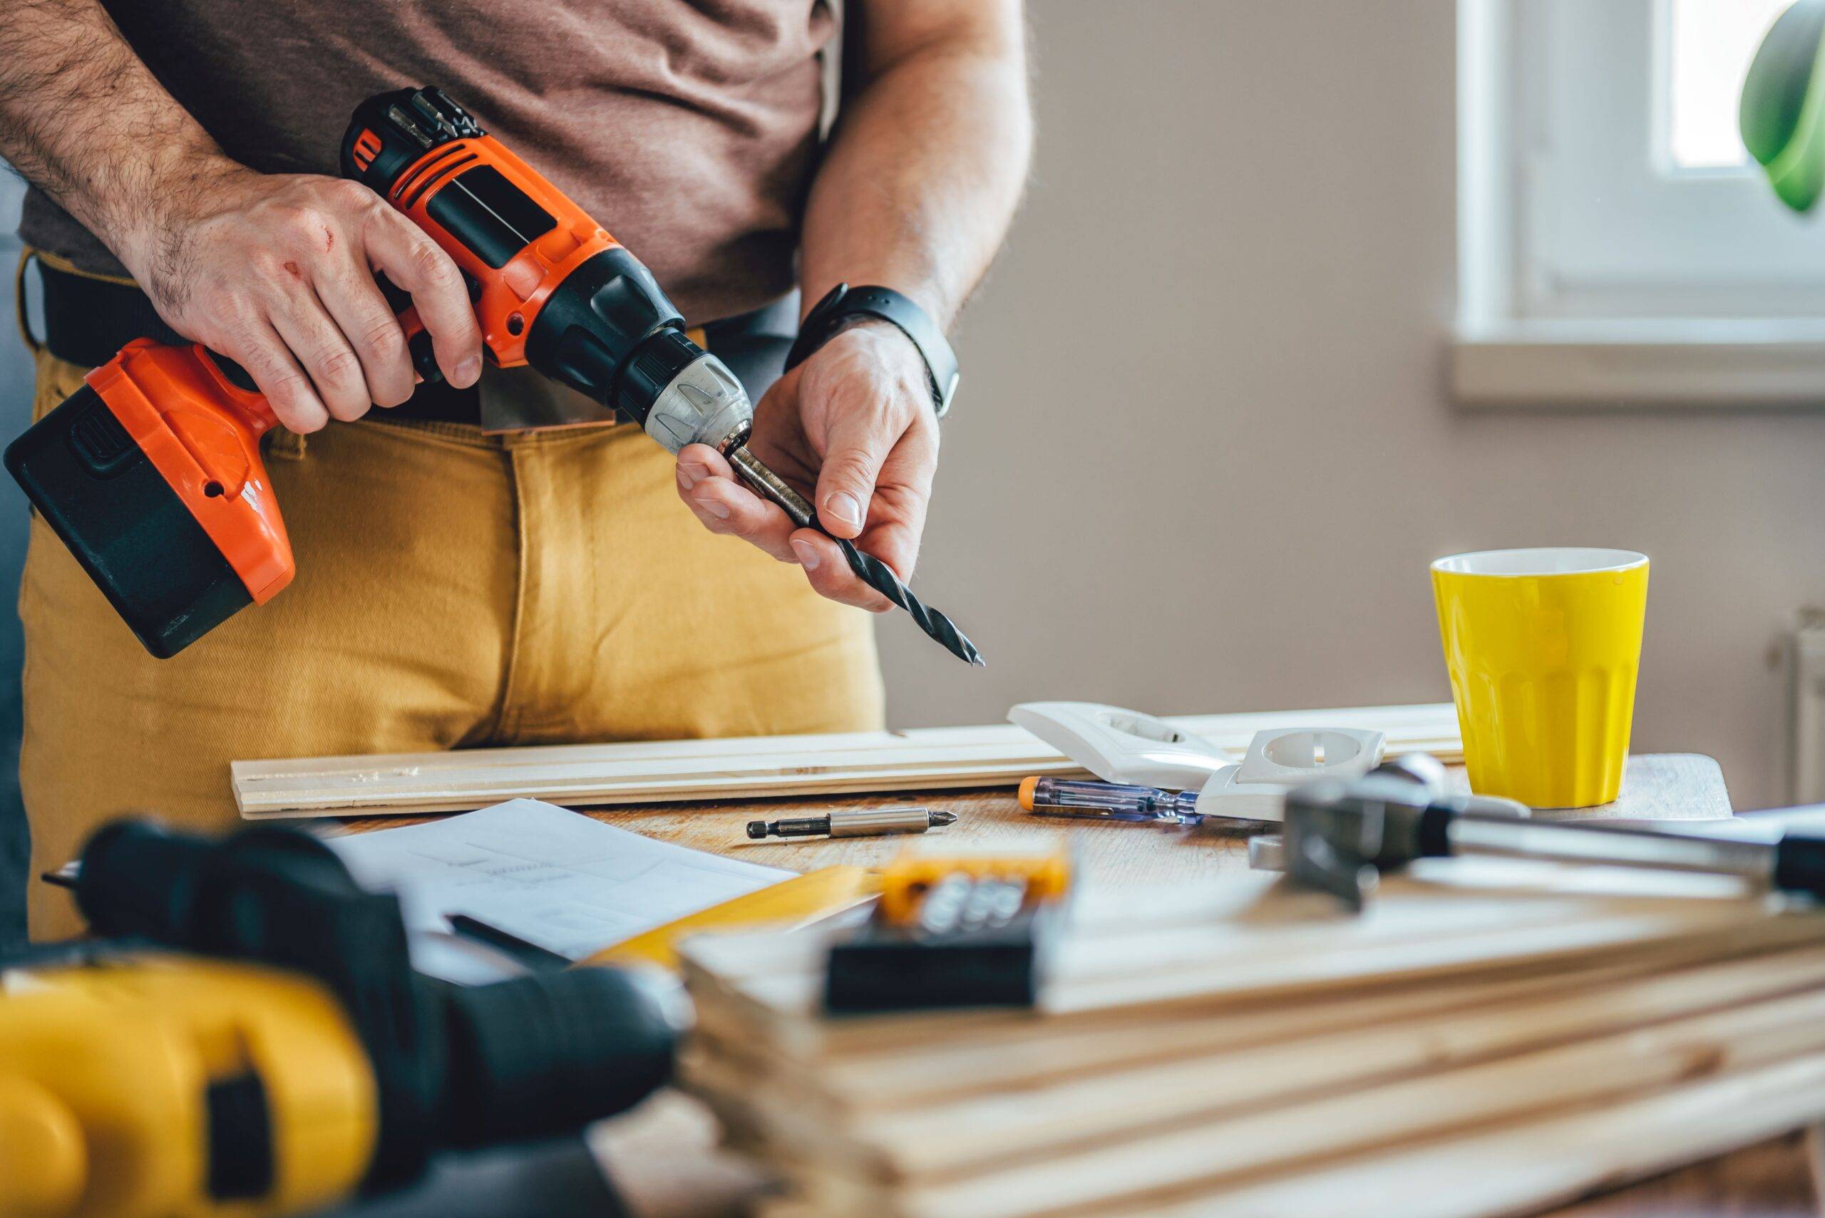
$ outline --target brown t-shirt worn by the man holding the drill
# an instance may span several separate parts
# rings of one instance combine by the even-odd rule
[[[4,2],[4,0],[0,0]],[[349,115],[436,84],[646,263],[692,321],[787,292],[827,0],[104,0],[230,157],[336,173]],[[42,191],[20,237],[124,274]]]

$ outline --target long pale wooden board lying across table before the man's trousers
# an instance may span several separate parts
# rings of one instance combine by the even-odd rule
[[[1425,751],[1455,762],[1464,751],[1449,702],[1168,722],[1237,760],[1256,731],[1305,724],[1383,731],[1389,753]],[[237,760],[230,771],[235,806],[250,821],[467,811],[516,797],[611,806],[987,788],[1015,786],[1035,773],[1084,773],[1013,724]]]

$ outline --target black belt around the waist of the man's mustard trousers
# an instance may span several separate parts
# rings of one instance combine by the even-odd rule
[[[27,257],[36,263],[44,283],[44,348],[64,363],[80,368],[100,366],[137,337],[175,345],[190,343],[164,325],[164,319],[151,306],[151,299],[137,286],[73,274],[53,266],[47,259]],[[754,401],[759,401],[761,394],[779,379],[796,335],[798,292],[692,332],[701,346],[715,352],[728,365]],[[423,383],[409,401],[389,410],[374,410],[367,418],[389,423],[478,425],[482,394],[474,385],[453,388],[443,381]]]

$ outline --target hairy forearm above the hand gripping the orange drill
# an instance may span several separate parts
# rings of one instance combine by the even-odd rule
[[[0,4],[0,155],[130,268],[172,170],[228,164],[97,0]]]

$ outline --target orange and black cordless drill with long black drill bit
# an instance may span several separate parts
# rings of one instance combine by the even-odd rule
[[[363,102],[343,173],[412,219],[462,268],[487,359],[531,365],[613,407],[677,452],[704,443],[801,529],[805,498],[748,452],[754,407],[628,250],[507,151],[442,89]],[[420,377],[429,334],[400,314]],[[5,465],[155,656],[190,645],[292,580],[292,547],[259,454],[277,419],[234,361],[135,339],[27,428]],[[954,655],[975,645],[878,558],[838,540],[850,569]]]

